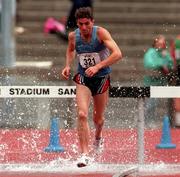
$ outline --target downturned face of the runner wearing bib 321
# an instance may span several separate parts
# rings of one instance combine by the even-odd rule
[[[94,20],[89,18],[80,18],[77,20],[77,25],[81,31],[81,34],[86,36],[91,34]]]

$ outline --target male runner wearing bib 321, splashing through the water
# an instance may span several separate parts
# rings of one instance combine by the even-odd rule
[[[76,83],[77,129],[82,153],[77,165],[83,167],[89,163],[88,110],[91,97],[94,105],[94,146],[99,148],[102,145],[104,111],[109,95],[111,72],[109,66],[120,60],[122,54],[110,33],[102,27],[94,26],[91,8],[79,8],[75,17],[78,29],[69,33],[66,66],[62,70],[62,76],[65,79],[69,78],[70,65],[76,54],[78,70],[73,80]]]

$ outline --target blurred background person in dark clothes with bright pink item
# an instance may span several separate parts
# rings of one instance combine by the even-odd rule
[[[68,14],[67,20],[57,21],[50,17],[47,19],[44,25],[45,33],[55,33],[58,37],[68,40],[68,33],[77,28],[75,12],[80,7],[92,8],[93,0],[71,0],[72,7]]]

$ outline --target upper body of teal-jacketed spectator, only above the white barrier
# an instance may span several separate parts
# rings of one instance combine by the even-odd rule
[[[169,85],[169,73],[173,70],[173,59],[167,50],[163,35],[155,37],[153,45],[144,55],[145,86]]]

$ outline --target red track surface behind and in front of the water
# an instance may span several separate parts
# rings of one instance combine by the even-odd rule
[[[145,163],[165,162],[180,163],[180,129],[172,129],[172,142],[175,149],[156,149],[161,140],[161,130],[145,131]],[[93,136],[92,132],[92,136]],[[102,163],[137,163],[137,132],[135,130],[104,130],[105,150],[101,159]],[[0,130],[0,163],[37,163],[48,162],[61,158],[76,158],[78,153],[78,137],[75,130],[60,131],[60,143],[65,148],[64,153],[46,153],[44,148],[49,144],[49,131],[46,130]],[[73,147],[72,147],[73,145]],[[3,154],[3,155],[2,155]],[[70,177],[66,174],[0,174],[1,177]],[[110,177],[112,174],[81,174],[73,177]],[[167,175],[180,177],[180,175]],[[167,177],[166,175],[158,177]],[[150,177],[150,176],[146,176]]]

